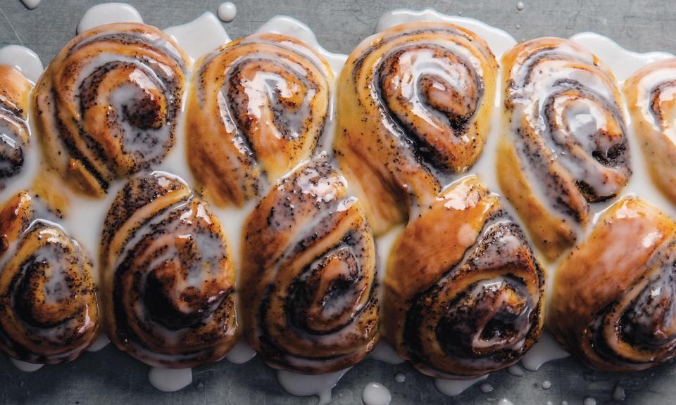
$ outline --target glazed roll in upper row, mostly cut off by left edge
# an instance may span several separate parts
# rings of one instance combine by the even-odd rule
[[[21,172],[30,143],[26,122],[32,84],[21,72],[0,65],[0,191]]]

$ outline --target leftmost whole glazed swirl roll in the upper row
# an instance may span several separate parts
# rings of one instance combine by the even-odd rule
[[[161,162],[175,141],[187,56],[155,27],[78,35],[42,75],[35,117],[44,159],[87,195]]]

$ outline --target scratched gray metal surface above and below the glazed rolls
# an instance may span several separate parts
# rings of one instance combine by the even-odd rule
[[[349,53],[373,34],[384,11],[392,8],[434,7],[444,13],[483,20],[510,32],[516,39],[553,35],[569,37],[582,31],[605,34],[634,51],[676,53],[676,9],[670,0],[518,0],[401,1],[401,0],[235,0],[237,18],[225,24],[231,37],[253,32],[276,14],[292,15],[307,23],[330,51]],[[18,0],[0,0],[0,45],[23,44],[39,53],[44,63],[75,35],[80,16],[103,1],[42,0],[28,11]],[[146,23],[168,27],[186,23],[204,11],[215,12],[218,0],[127,0]],[[156,391],[147,382],[148,366],[108,346],[86,353],[71,364],[46,366],[22,373],[0,356],[0,404],[314,404],[313,398],[292,397],[277,384],[275,373],[260,359],[243,366],[222,361],[194,370],[194,383],[173,394]],[[397,371],[406,383],[395,383]],[[540,384],[551,381],[551,388]],[[599,373],[572,359],[544,365],[537,373],[515,377],[506,372],[488,379],[489,394],[472,387],[460,397],[439,394],[430,378],[411,366],[390,366],[367,360],[351,369],[334,389],[334,404],[361,404],[365,384],[375,381],[392,392],[392,404],[495,404],[507,398],[514,404],[582,404],[592,396],[597,404],[613,404],[618,383],[629,404],[675,404],[676,366],[667,364],[643,373]]]

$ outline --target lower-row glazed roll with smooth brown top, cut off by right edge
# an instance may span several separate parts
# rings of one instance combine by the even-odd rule
[[[566,350],[607,371],[674,356],[676,223],[627,197],[603,212],[556,273],[548,327]]]

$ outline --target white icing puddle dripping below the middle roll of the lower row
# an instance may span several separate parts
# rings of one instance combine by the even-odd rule
[[[285,370],[277,370],[277,381],[284,391],[296,397],[319,397],[317,405],[326,405],[331,402],[331,390],[343,377],[349,368],[334,373],[308,375],[296,374]]]

